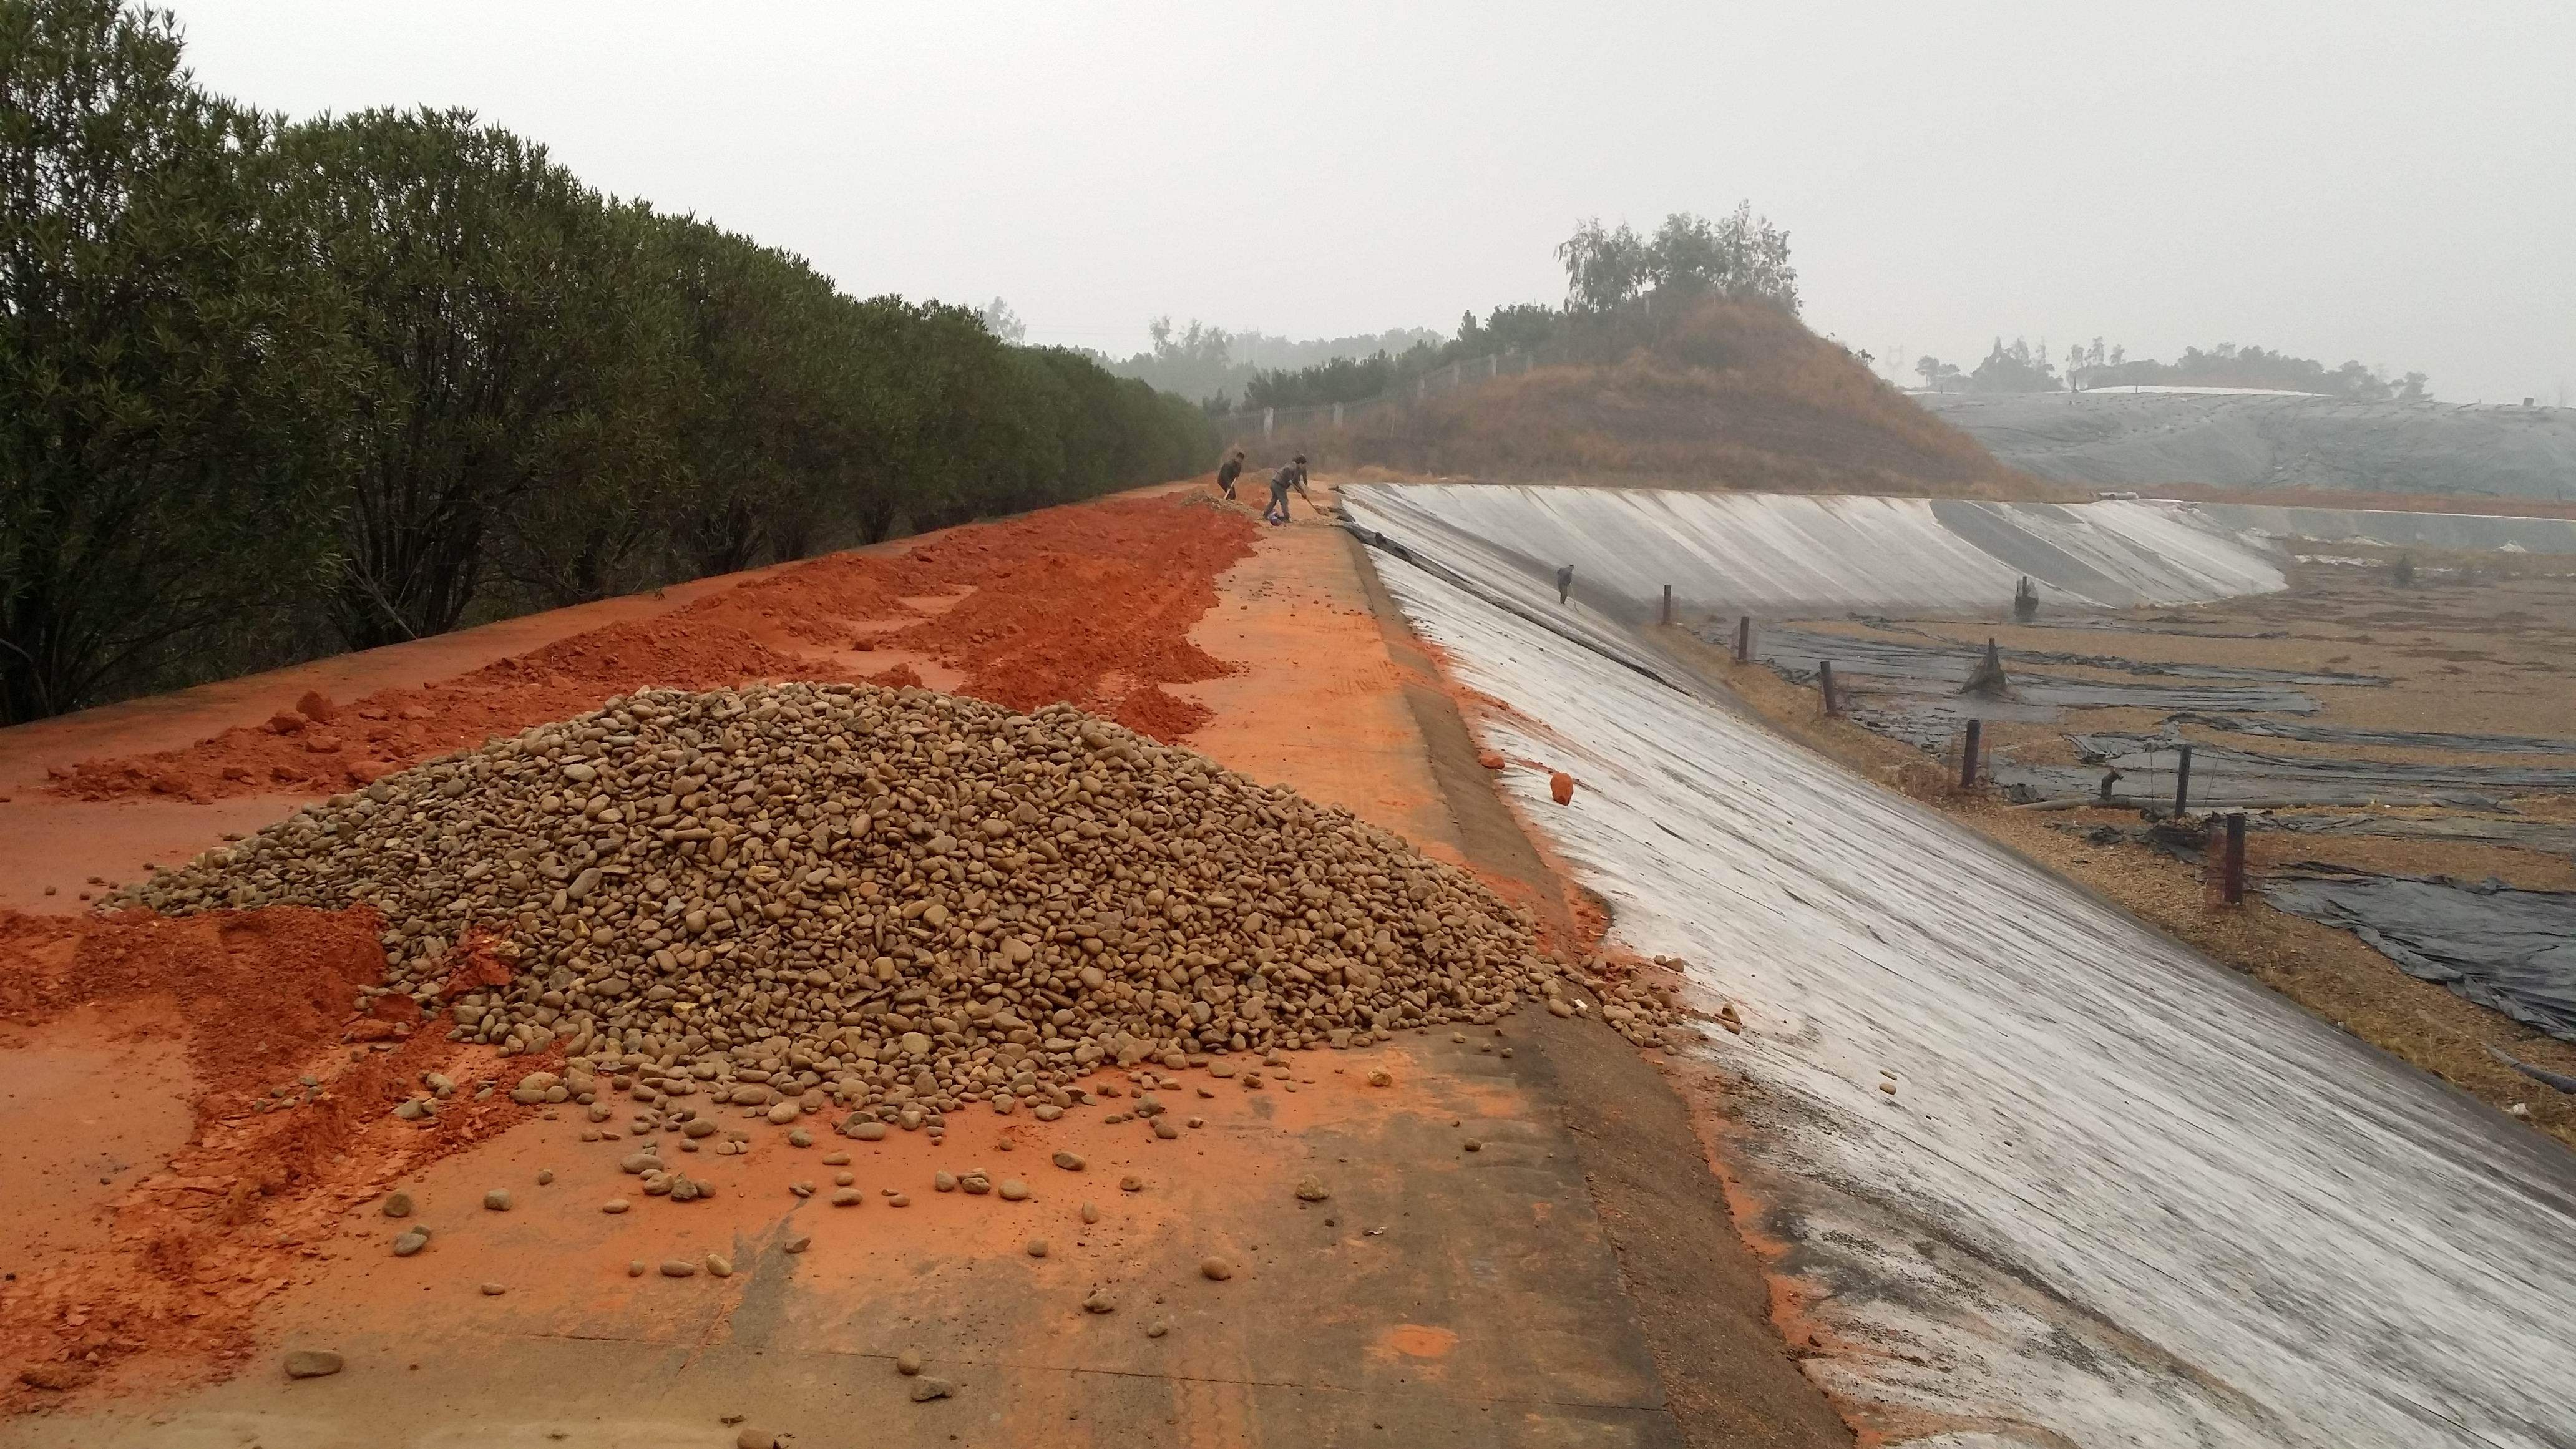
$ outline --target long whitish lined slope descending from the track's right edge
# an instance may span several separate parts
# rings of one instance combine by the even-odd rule
[[[1865,784],[1381,554],[1504,789],[1744,1036],[1826,1387],[1940,1444],[2576,1444],[2576,1168]],[[1458,565],[1455,557],[1437,559]],[[1553,608],[1553,596],[1548,598]],[[1703,1003],[1708,1006],[1708,1003]],[[1899,1091],[1878,1091],[1880,1070]]]

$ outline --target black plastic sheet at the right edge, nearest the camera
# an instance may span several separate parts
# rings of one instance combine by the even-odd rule
[[[2576,1042],[2576,892],[2290,866],[2257,882],[2293,915],[2352,931],[2411,977]]]

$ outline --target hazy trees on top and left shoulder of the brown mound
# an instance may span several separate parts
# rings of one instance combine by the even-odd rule
[[[1494,307],[1484,322],[1468,312],[1458,320],[1455,338],[1443,340],[1437,333],[1425,333],[1404,351],[1381,348],[1370,356],[1340,356],[1301,369],[1265,369],[1244,384],[1242,405],[1360,402],[1453,361],[1504,351],[1535,353],[1564,340],[1574,327],[1584,327],[1587,335],[1600,333],[1587,322],[1631,307],[1649,315],[1656,307],[1674,312],[1703,297],[1721,297],[1798,315],[1798,271],[1788,260],[1788,232],[1754,217],[1752,204],[1739,204],[1723,222],[1674,211],[1651,237],[1641,237],[1625,222],[1613,229],[1602,227],[1600,219],[1584,219],[1556,248],[1556,260],[1566,268],[1564,304]]]

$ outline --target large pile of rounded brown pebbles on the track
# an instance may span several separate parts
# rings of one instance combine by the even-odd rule
[[[1054,1114],[1092,1065],[1365,1044],[1571,985],[1473,877],[1342,810],[1072,706],[920,688],[613,699],[113,905],[286,902],[379,908],[368,990],[453,1008],[459,1039],[804,1111]]]

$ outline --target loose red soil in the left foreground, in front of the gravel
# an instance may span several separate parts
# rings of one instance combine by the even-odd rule
[[[180,1036],[196,1075],[193,1137],[108,1204],[108,1245],[13,1263],[15,1279],[0,1284],[0,1410],[137,1354],[209,1369],[245,1354],[258,1305],[350,1204],[531,1111],[495,1093],[459,1096],[420,1127],[389,1116],[420,1091],[420,1073],[443,1070],[471,1091],[497,1075],[497,1057],[415,1029],[407,998],[397,1000],[407,1011],[350,1018],[355,990],[384,975],[381,926],[366,908],[0,913],[0,1044],[100,1006],[137,1021],[137,1039]]]

